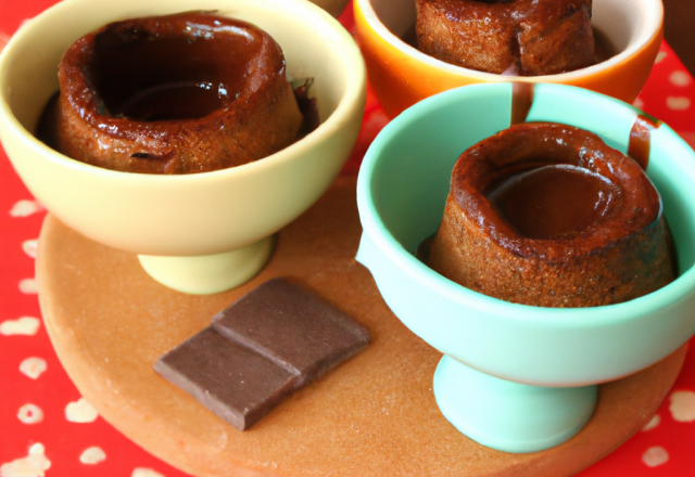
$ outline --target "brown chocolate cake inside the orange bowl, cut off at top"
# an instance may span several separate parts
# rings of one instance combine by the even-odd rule
[[[416,0],[418,48],[481,72],[554,75],[595,62],[592,0]]]

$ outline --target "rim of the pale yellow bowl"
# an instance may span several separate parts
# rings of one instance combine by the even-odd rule
[[[8,63],[11,56],[14,54],[16,44],[21,43],[25,37],[35,35],[31,27],[34,22],[38,18],[47,18],[50,16],[59,16],[63,11],[70,11],[75,8],[75,4],[79,4],[84,0],[64,0],[59,2],[49,9],[42,11],[36,17],[25,22],[20,29],[10,38],[10,41],[5,44],[2,51],[0,51],[0,124],[5,123],[9,129],[9,133],[14,136],[17,140],[24,143],[28,150],[34,154],[38,154],[46,159],[53,162],[62,167],[74,169],[89,175],[101,176],[110,180],[128,180],[144,183],[155,183],[162,185],[163,183],[180,184],[191,183],[200,181],[225,181],[230,177],[237,177],[241,179],[249,175],[263,173],[265,170],[274,168],[282,163],[294,160],[298,157],[306,156],[308,150],[315,144],[325,142],[336,133],[340,132],[342,127],[348,123],[349,118],[356,114],[363,101],[363,90],[366,86],[366,66],[364,59],[359,52],[357,44],[348,30],[329,13],[316,4],[303,1],[303,0],[262,0],[262,4],[265,4],[269,11],[278,11],[277,15],[280,15],[283,10],[299,10],[303,16],[313,15],[314,20],[323,22],[324,28],[321,30],[330,30],[334,34],[334,42],[340,44],[342,51],[341,55],[336,55],[340,61],[337,63],[344,65],[342,68],[349,75],[345,81],[345,89],[341,95],[334,111],[326,118],[326,120],[312,132],[288,145],[287,147],[278,151],[275,154],[263,157],[262,159],[243,164],[240,166],[229,167],[225,169],[218,169],[206,172],[187,173],[187,175],[151,175],[151,173],[138,173],[138,172],[125,172],[118,170],[105,169],[98,166],[92,166],[79,160],[65,156],[58,151],[47,146],[41,141],[35,138],[22,124],[17,120],[13,114],[8,100],[7,100],[7,87],[4,85]],[[248,2],[254,7],[258,7],[260,0],[242,0],[229,1],[231,7],[238,8],[240,3]],[[273,5],[273,8],[270,8]],[[156,15],[159,8],[151,8]],[[118,18],[114,18],[116,21]],[[298,27],[301,25],[298,23]],[[312,28],[312,31],[315,29]],[[86,34],[86,33],[85,33]],[[2,129],[2,128],[0,128]]]

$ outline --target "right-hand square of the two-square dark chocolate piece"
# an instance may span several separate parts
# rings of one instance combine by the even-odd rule
[[[369,332],[328,301],[273,279],[213,318],[227,338],[299,375],[299,385],[357,353]]]

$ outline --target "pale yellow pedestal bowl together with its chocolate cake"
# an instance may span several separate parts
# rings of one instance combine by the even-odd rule
[[[338,176],[366,75],[352,37],[309,2],[200,9],[67,0],[30,20],[0,56],[0,139],[65,224],[208,294],[253,276],[271,235]]]

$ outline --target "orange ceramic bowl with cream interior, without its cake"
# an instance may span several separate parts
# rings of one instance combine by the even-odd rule
[[[592,25],[618,53],[609,60],[560,75],[510,77],[467,69],[418,51],[415,0],[355,0],[355,34],[371,83],[387,114],[441,91],[500,81],[579,86],[632,103],[644,86],[662,38],[661,0],[594,0]]]

